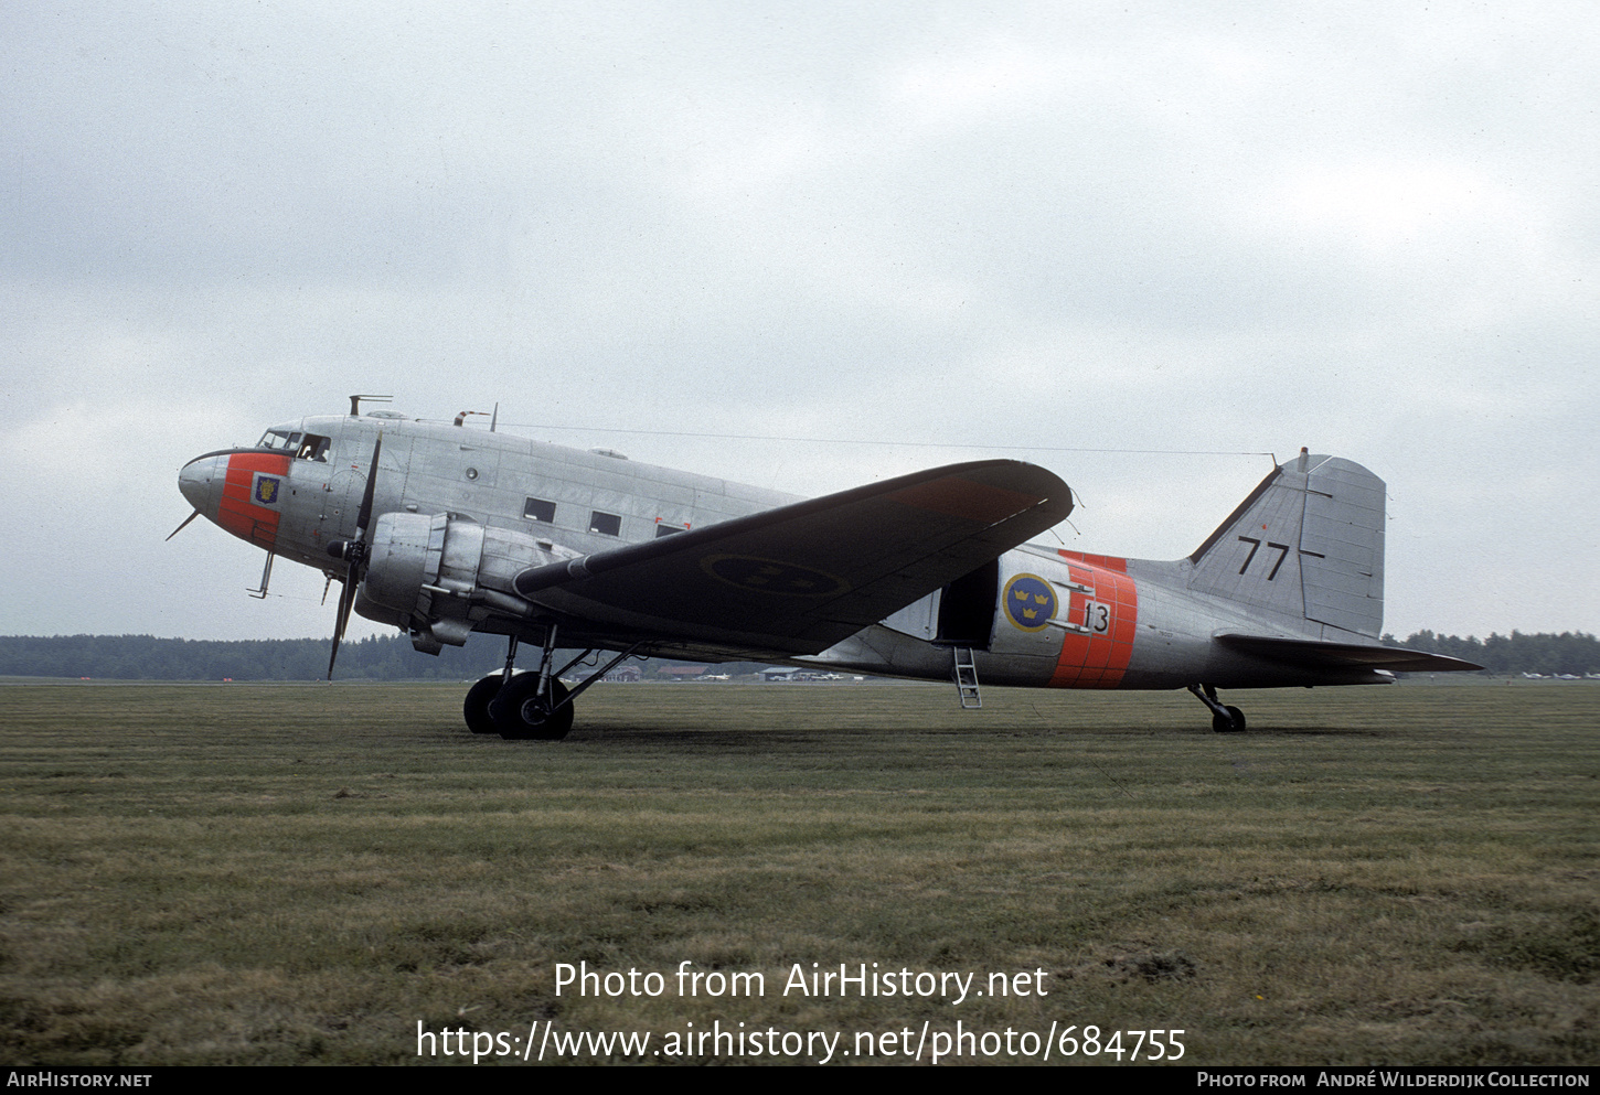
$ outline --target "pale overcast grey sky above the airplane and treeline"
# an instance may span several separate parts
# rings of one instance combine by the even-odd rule
[[[1045,542],[1136,558],[1304,444],[1387,481],[1386,630],[1600,630],[1592,3],[0,27],[0,633],[328,635],[320,574],[163,537],[352,392],[811,496],[1032,460]]]

